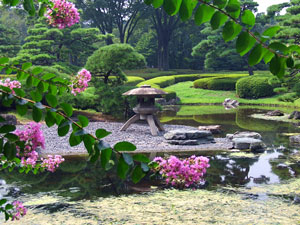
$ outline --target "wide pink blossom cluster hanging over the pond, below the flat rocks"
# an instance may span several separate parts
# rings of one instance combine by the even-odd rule
[[[206,169],[210,166],[208,158],[195,155],[183,160],[176,156],[167,160],[156,157],[153,161],[158,163],[155,171],[159,171],[166,183],[178,188],[190,187],[203,181]]]

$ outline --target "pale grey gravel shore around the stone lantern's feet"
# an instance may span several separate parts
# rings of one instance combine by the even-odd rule
[[[119,141],[129,141],[137,146],[139,152],[178,152],[178,151],[203,151],[203,150],[228,150],[232,147],[232,143],[225,138],[215,138],[214,144],[202,144],[198,146],[177,146],[170,145],[164,142],[163,133],[160,136],[152,136],[150,129],[146,124],[133,124],[126,132],[119,131],[123,123],[115,122],[91,122],[86,130],[90,133],[94,133],[97,129],[102,128],[112,132],[109,136],[103,140],[108,142],[111,146]],[[166,131],[189,128],[196,129],[194,127],[182,126],[182,125],[164,125]],[[45,136],[45,147],[42,150],[44,154],[61,154],[61,155],[80,155],[86,154],[84,145],[81,143],[78,146],[69,146],[69,135],[65,137],[59,137],[57,135],[57,127],[51,128],[42,125],[42,129]]]

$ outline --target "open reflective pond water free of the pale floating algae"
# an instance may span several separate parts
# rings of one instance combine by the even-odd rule
[[[222,106],[182,106],[176,110],[167,110],[160,115],[166,124],[189,126],[221,125],[224,137],[227,133],[250,130],[259,132],[268,149],[262,154],[250,152],[201,152],[210,158],[211,167],[207,171],[205,190],[217,193],[224,187],[254,188],[265,185],[280,184],[300,174],[300,166],[291,162],[291,157],[298,152],[297,148],[289,146],[288,138],[283,133],[299,133],[298,126],[291,123],[254,119],[251,114],[265,113],[270,107],[247,108],[240,107],[225,110]],[[282,109],[289,113],[293,109]],[[172,153],[173,154],[173,153]],[[199,152],[175,153],[186,157]],[[168,156],[167,153],[149,155]],[[91,164],[84,157],[69,157],[56,173],[19,174],[18,172],[1,172],[2,186],[0,194],[6,197],[34,201],[32,209],[47,213],[64,212],[70,202],[95,201],[99,198],[114,199],[120,194],[157,192],[162,190],[162,182],[146,177],[140,184],[119,180],[115,173],[104,173],[101,166]],[[41,194],[42,193],[42,194]],[[42,196],[41,196],[42,195]],[[123,196],[122,195],[122,196]],[[141,194],[139,194],[139,197]],[[40,197],[38,197],[40,196]],[[38,198],[50,196],[38,201]],[[119,197],[117,197],[119,198]],[[62,203],[68,201],[68,203]],[[47,204],[46,204],[47,203]],[[34,207],[33,207],[34,205]],[[30,224],[30,223],[28,223]]]

